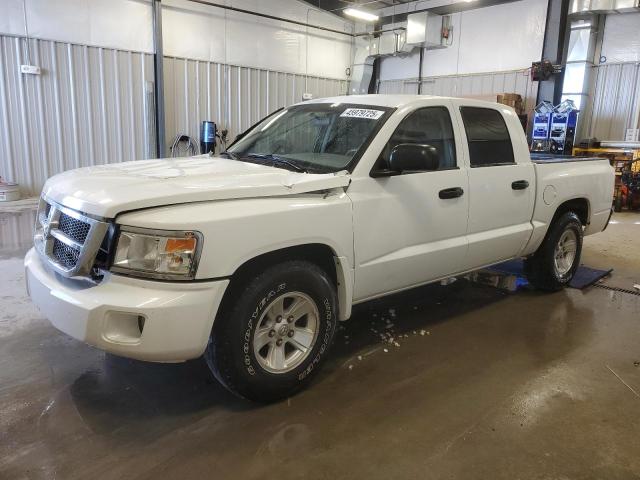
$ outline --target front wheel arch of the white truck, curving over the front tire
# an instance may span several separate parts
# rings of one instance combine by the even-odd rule
[[[324,243],[305,243],[263,252],[238,266],[231,275],[231,283],[223,302],[238,294],[239,288],[256,272],[287,260],[305,260],[323,269],[336,287],[338,297],[338,319],[347,320],[351,316],[353,301],[353,270],[346,257]]]

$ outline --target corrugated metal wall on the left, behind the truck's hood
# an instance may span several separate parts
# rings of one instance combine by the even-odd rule
[[[0,176],[37,195],[56,173],[155,156],[153,56],[0,36]],[[229,138],[302,99],[346,93],[346,81],[196,60],[165,59],[167,141],[199,139],[214,120]],[[306,87],[305,87],[306,82]]]

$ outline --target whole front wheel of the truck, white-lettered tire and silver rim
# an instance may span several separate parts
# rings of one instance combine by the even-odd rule
[[[336,303],[331,279],[315,264],[272,266],[223,307],[205,352],[207,364],[241,397],[286,398],[324,362],[336,329]]]

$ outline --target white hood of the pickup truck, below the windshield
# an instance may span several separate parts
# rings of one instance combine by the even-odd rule
[[[203,155],[70,170],[50,178],[43,194],[74,210],[113,218],[140,208],[295,195],[347,185],[346,171],[297,173]]]

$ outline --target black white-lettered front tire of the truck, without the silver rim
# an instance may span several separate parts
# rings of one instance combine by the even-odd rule
[[[313,263],[288,261],[266,269],[236,292],[216,317],[205,351],[216,379],[234,394],[256,402],[277,401],[303,389],[324,362],[336,330],[337,295],[329,275]],[[253,340],[263,313],[287,292],[301,292],[315,302],[318,333],[299,365],[286,373],[272,373],[256,358]]]

